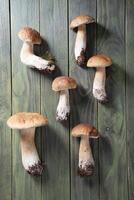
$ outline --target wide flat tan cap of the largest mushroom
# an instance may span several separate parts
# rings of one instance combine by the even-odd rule
[[[12,129],[27,129],[48,124],[48,119],[39,113],[20,112],[11,116],[7,125]]]

